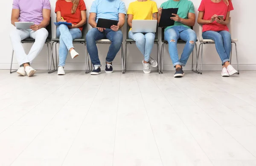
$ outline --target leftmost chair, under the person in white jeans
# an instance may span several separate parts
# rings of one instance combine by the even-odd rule
[[[50,22],[49,22],[49,25],[47,25],[46,27],[46,30],[48,31],[48,37],[45,41],[45,44],[47,44],[47,70],[48,70],[48,73],[49,73],[49,45],[51,46],[51,49],[52,49],[52,45],[51,45],[51,38],[52,38],[52,25],[51,25],[51,18],[50,18]],[[27,39],[23,39],[21,41],[21,43],[34,43],[35,42],[35,39],[32,39],[32,38],[27,38]],[[15,71],[12,71],[12,61],[13,61],[13,54],[14,54],[14,50],[12,49],[12,59],[11,59],[11,66],[10,66],[10,73],[13,73]]]

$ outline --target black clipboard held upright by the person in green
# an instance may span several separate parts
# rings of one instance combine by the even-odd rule
[[[175,17],[172,14],[177,14],[179,8],[166,8],[162,10],[158,27],[168,27],[174,25],[175,21],[171,20],[170,17]]]

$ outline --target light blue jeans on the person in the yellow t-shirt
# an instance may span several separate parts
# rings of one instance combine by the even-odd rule
[[[129,31],[129,38],[136,42],[137,48],[143,54],[146,62],[149,62],[155,36],[155,33],[132,33]]]

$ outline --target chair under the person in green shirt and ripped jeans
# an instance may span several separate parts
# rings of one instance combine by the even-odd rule
[[[191,27],[191,29],[193,29],[193,27]],[[196,40],[197,42],[198,40]],[[161,68],[161,73],[163,73],[163,56],[164,56],[164,45],[165,44],[168,44],[168,42],[164,39],[164,28],[162,28],[162,47],[161,47],[161,54],[160,54],[160,57],[162,59],[162,62],[161,62],[161,65],[162,65],[162,68]],[[197,64],[196,64],[196,67],[195,69],[193,68],[193,59],[194,59],[194,51],[192,51],[192,71],[195,72],[195,73],[199,73],[199,70],[198,70],[198,53],[197,53],[197,45],[196,45],[196,42],[195,42],[195,52],[196,52],[196,59],[197,59]],[[177,44],[186,44],[185,41],[183,41],[182,39],[178,39],[177,40]]]

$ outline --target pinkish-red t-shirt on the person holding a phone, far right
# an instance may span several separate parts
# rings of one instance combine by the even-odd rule
[[[214,3],[211,0],[202,0],[198,8],[198,11],[204,11],[204,20],[211,20],[214,14],[223,15],[224,20],[226,19],[227,12],[234,10],[231,0],[228,0],[229,5],[227,6],[223,0],[219,3]],[[210,24],[203,25],[204,31],[228,31],[227,25],[222,25],[214,21]]]

